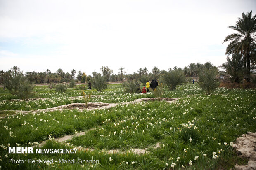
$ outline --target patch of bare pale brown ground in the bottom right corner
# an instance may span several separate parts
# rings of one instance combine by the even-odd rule
[[[235,165],[235,170],[256,170],[256,132],[238,137],[233,147],[241,158],[249,159],[248,165]]]

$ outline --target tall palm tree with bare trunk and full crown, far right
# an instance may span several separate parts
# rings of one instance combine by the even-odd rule
[[[223,42],[231,41],[226,48],[226,54],[241,53],[244,58],[244,78],[250,82],[250,61],[255,61],[256,47],[256,15],[252,16],[252,11],[242,13],[242,18],[238,18],[235,26],[228,26],[238,33],[228,35]]]

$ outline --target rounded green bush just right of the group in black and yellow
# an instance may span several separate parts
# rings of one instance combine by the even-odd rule
[[[176,86],[185,82],[185,75],[182,70],[170,70],[169,72],[161,75],[164,83],[168,86],[170,90],[175,90]]]

